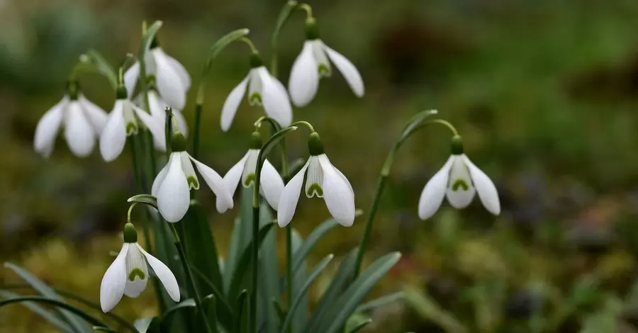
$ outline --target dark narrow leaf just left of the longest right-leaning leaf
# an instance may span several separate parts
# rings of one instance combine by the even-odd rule
[[[357,261],[357,249],[352,249],[345,259],[339,265],[339,269],[337,269],[337,273],[335,277],[332,278],[332,282],[328,287],[328,290],[323,293],[319,304],[315,307],[315,312],[313,316],[310,317],[310,322],[306,325],[306,330],[308,333],[316,332],[323,333],[318,331],[321,324],[323,324],[325,317],[328,315],[328,312],[332,310],[332,307],[335,305],[337,298],[343,293],[345,290],[345,286],[349,283],[352,275],[354,273],[354,264]]]

